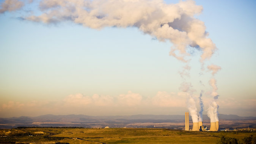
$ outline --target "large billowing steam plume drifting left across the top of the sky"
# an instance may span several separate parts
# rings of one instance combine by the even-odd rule
[[[5,0],[1,13],[22,6],[19,0]],[[195,47],[203,52],[203,62],[212,56],[216,47],[207,38],[204,22],[194,17],[202,10],[203,7],[193,0],[176,4],[166,4],[162,0],[39,0],[42,14],[22,19],[42,23],[70,21],[93,29],[137,27],[159,41],[173,43],[171,56],[187,62],[185,57],[190,55],[187,48]]]

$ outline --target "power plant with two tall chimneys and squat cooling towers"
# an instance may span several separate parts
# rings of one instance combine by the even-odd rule
[[[189,116],[188,112],[185,112],[185,130],[189,131]],[[219,131],[219,122],[210,122],[209,131]],[[192,131],[207,131],[207,127],[203,125],[203,122],[193,122]]]

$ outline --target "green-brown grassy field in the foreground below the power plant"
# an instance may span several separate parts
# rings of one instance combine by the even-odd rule
[[[0,143],[216,144],[221,136],[242,140],[254,132],[200,132],[157,128],[13,128],[0,130]],[[242,141],[241,141],[242,142]]]

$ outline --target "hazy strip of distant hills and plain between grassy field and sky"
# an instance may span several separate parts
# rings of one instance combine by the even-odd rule
[[[256,117],[219,114],[220,129],[255,128]],[[203,115],[204,125],[209,129],[210,119]],[[86,116],[86,115],[52,115],[36,117],[0,118],[0,129],[17,127],[84,127],[84,128],[169,128],[185,130],[184,115],[131,115],[131,116]],[[190,128],[193,124],[190,116]]]

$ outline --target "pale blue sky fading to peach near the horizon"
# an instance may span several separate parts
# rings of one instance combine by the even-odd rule
[[[188,1],[195,2],[196,14],[192,17],[203,22],[209,33],[206,38],[215,44],[214,53],[203,59],[205,52],[199,42],[195,48],[188,42],[192,46],[186,47],[185,54],[189,55],[181,55],[188,62],[170,53],[176,44],[183,44],[176,38],[177,34],[184,33],[171,35],[172,41],[168,41],[162,39],[160,32],[151,31],[146,22],[127,25],[132,18],[144,16],[137,15],[136,10],[150,11],[140,10],[144,5],[136,8],[128,5],[127,11],[119,11],[128,19],[120,25],[107,22],[102,26],[104,18],[86,21],[86,16],[74,22],[69,20],[72,11],[70,16],[58,17],[67,14],[63,12],[66,9],[51,13],[52,20],[48,19],[52,16],[50,13],[46,17],[35,17],[47,11],[46,6],[53,5],[54,1],[0,0],[0,117],[184,114],[191,108],[190,97],[195,100],[197,111],[200,110],[200,94],[203,114],[209,114],[213,92],[219,95],[214,100],[219,106],[218,113],[256,116],[256,1]],[[6,7],[7,2],[15,5]],[[155,2],[182,3],[178,0]],[[110,4],[99,9],[104,13],[107,8],[109,15],[116,14]],[[150,3],[148,7],[152,7]],[[129,13],[129,9],[136,10]],[[173,11],[167,14],[173,16],[176,13]],[[178,24],[182,26],[182,22]],[[207,69],[210,65],[221,69],[212,75]],[[186,66],[190,69],[184,68]],[[209,85],[212,78],[216,80],[215,90]],[[184,83],[190,84],[189,91],[182,89]]]

